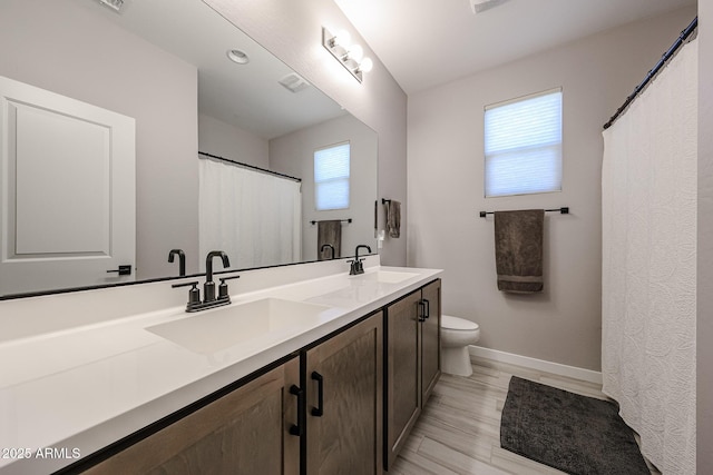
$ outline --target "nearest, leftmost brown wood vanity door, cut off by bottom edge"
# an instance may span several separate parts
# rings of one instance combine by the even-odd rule
[[[297,474],[294,358],[94,466],[89,474]]]

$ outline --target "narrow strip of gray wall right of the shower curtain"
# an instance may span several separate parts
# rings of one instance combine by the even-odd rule
[[[699,0],[697,473],[713,467],[713,0]]]

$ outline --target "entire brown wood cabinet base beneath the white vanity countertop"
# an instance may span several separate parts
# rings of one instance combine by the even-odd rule
[[[382,474],[440,376],[440,290],[434,280],[182,409],[86,473]]]

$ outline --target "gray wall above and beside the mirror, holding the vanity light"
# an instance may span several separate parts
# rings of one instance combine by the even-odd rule
[[[387,239],[382,264],[406,264],[407,97],[332,0],[204,0],[379,136],[379,198],[400,200],[402,234]],[[359,83],[322,48],[322,27],[346,29],[374,68]]]

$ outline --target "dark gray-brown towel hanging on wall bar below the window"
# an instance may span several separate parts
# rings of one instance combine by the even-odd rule
[[[498,290],[543,291],[544,209],[495,212],[495,264]]]

